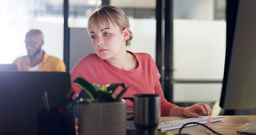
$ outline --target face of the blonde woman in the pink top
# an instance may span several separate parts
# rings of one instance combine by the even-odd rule
[[[117,26],[101,30],[91,29],[90,36],[95,52],[103,60],[118,58],[126,52],[127,29],[122,31]]]

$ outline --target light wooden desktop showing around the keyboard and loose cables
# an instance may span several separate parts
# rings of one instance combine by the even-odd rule
[[[175,117],[175,116],[168,116],[168,117],[161,117],[161,122],[168,122],[171,120],[179,120],[179,119],[186,119],[185,117]],[[221,125],[228,125],[232,127],[240,127],[245,123],[256,122],[256,115],[233,115],[233,116],[225,116],[222,118],[220,122],[214,122],[212,124],[221,124]],[[237,128],[227,128],[227,127],[220,127],[217,125],[210,126],[216,132],[228,132],[228,133],[237,133]],[[179,129],[171,130],[174,134],[179,132]],[[201,134],[208,134],[205,132],[205,127],[200,125],[195,125],[192,127],[183,128],[181,133],[190,133],[191,135],[201,135]],[[225,134],[225,133],[222,133]],[[209,134],[208,134],[209,135]]]

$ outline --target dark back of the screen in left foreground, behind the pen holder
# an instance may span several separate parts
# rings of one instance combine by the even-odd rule
[[[38,134],[37,113],[45,109],[44,92],[50,108],[59,108],[70,83],[65,72],[0,71],[0,134]]]

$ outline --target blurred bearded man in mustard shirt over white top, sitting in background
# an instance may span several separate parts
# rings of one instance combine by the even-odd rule
[[[28,55],[18,57],[13,63],[19,71],[66,71],[66,66],[57,57],[47,55],[42,50],[43,33],[38,29],[26,33],[25,45]]]

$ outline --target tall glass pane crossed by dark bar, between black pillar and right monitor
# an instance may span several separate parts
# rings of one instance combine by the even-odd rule
[[[226,1],[174,1],[173,101],[220,99],[226,51]]]

